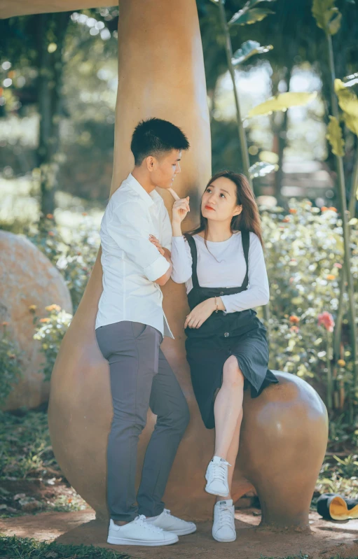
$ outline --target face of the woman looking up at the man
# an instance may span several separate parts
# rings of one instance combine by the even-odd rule
[[[237,205],[236,185],[230,178],[216,178],[202,194],[201,213],[208,220],[230,222],[241,212],[242,206]]]

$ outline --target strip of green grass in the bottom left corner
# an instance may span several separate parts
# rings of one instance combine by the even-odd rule
[[[0,535],[1,559],[130,559],[125,553],[95,546],[65,546]]]

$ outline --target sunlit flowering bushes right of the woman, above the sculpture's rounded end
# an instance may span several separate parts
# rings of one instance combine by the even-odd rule
[[[324,311],[336,316],[343,269],[341,220],[336,208],[322,210],[312,208],[309,201],[291,200],[289,215],[279,208],[262,215],[270,281],[270,367],[321,387],[329,374],[331,339],[318,318]],[[357,284],[358,234],[353,227],[352,273]],[[347,311],[346,298],[345,306]],[[346,340],[343,357],[334,379],[336,392],[352,386],[353,362]]]

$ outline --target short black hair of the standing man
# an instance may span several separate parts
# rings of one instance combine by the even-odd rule
[[[136,165],[142,164],[149,155],[156,157],[172,150],[188,150],[189,147],[184,132],[172,122],[161,118],[149,118],[139,122],[130,143]]]

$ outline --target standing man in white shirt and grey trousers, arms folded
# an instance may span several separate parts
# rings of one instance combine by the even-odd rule
[[[103,292],[95,327],[109,361],[113,402],[107,451],[110,544],[167,545],[196,530],[195,524],[172,516],[162,502],[189,414],[160,350],[163,336],[174,338],[160,290],[172,274],[172,228],[155,190],[172,186],[181,152],[188,148],[186,136],[171,122],[139,122],[131,143],[135,168],[113,193],[101,223]],[[158,418],[135,504],[137,444],[149,406]]]

